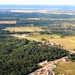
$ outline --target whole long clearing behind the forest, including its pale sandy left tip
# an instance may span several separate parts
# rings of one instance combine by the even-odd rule
[[[42,38],[45,38],[46,40],[49,40],[50,42],[55,42],[56,44],[61,44],[63,46],[63,48],[72,51],[73,49],[75,49],[75,36],[73,37],[65,37],[65,38],[61,38],[58,35],[41,35],[41,34],[35,34],[35,35],[30,35],[30,36],[23,36],[20,34],[13,34],[12,36],[17,37],[17,38],[27,38],[29,40],[38,40],[38,41],[42,41]]]

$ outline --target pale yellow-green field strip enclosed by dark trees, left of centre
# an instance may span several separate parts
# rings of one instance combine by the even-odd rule
[[[43,31],[39,27],[7,27],[6,30],[10,32],[34,32],[34,31]]]

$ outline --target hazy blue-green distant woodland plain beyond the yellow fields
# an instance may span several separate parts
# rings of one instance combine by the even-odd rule
[[[54,12],[55,13],[55,12]],[[0,24],[0,34],[13,34],[4,31],[6,27],[41,26],[45,32],[41,34],[75,35],[75,15],[51,13],[13,13],[0,12],[0,21],[16,21],[16,24]],[[16,32],[15,32],[16,33]],[[20,32],[19,32],[20,33]],[[24,33],[24,32],[22,32]]]

